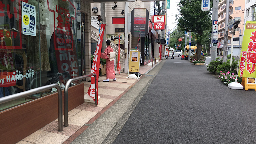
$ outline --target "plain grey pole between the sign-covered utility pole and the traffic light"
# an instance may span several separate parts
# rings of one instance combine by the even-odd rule
[[[225,20],[225,35],[223,45],[223,63],[227,62],[227,49],[228,49],[228,19],[229,19],[229,0],[226,2],[226,20]]]

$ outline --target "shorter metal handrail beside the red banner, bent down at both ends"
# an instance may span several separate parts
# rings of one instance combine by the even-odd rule
[[[65,89],[64,89],[64,126],[67,127],[68,126],[68,88],[71,82],[73,81],[77,81],[77,80],[81,80],[87,77],[92,77],[94,76],[95,78],[95,105],[97,105],[98,103],[98,96],[96,96],[97,94],[97,76],[96,73],[92,73],[92,74],[88,74],[88,75],[83,75],[83,76],[79,76],[79,77],[75,77],[75,78],[71,78],[67,81],[66,85],[65,85]],[[62,120],[61,120],[62,121]]]

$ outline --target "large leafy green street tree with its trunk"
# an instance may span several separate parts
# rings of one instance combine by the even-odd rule
[[[181,30],[194,32],[197,37],[197,59],[201,59],[203,32],[211,28],[212,1],[210,11],[201,10],[201,0],[180,0],[178,3],[180,14],[176,15],[177,25]]]

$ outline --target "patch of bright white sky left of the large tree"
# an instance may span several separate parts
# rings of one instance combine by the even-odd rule
[[[177,21],[175,20],[175,15],[179,14],[179,11],[177,10],[177,8],[179,8],[177,6],[177,2],[179,1],[180,0],[170,0],[170,9],[167,9],[166,23],[170,30],[174,28],[177,23]]]

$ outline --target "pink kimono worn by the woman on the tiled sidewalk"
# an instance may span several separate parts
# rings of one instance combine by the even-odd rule
[[[116,78],[115,68],[114,68],[115,61],[109,61],[109,53],[110,52],[113,52],[113,49],[111,46],[108,46],[104,52],[101,52],[100,58],[106,59],[107,79],[114,79],[114,78]]]

